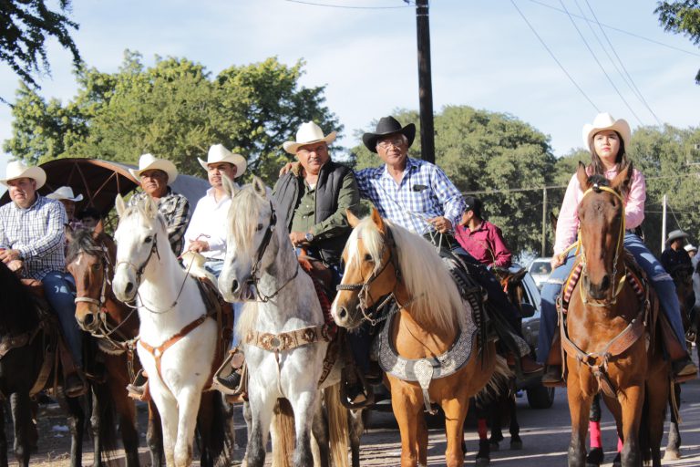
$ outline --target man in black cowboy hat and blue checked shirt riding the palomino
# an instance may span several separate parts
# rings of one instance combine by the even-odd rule
[[[424,235],[438,246],[441,255],[457,254],[469,275],[488,292],[490,303],[513,327],[510,331],[516,332],[520,316],[499,280],[464,251],[452,235],[466,208],[461,193],[437,165],[408,157],[415,136],[413,123],[402,127],[391,116],[379,119],[376,130],[362,136],[365,147],[377,153],[384,165],[355,172],[360,195],[371,201],[382,217]],[[370,337],[363,333],[351,336],[357,339],[354,350],[366,353]],[[542,369],[530,359],[529,352],[521,352],[525,353],[520,358],[523,373]]]

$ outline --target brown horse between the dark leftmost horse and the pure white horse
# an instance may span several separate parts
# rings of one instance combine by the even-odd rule
[[[121,303],[114,296],[110,285],[114,273],[116,245],[110,236],[101,232],[77,231],[68,244],[68,270],[76,279],[76,319],[78,325],[95,337],[102,337],[102,347],[107,349],[106,364],[112,397],[121,415],[122,431],[128,465],[139,465],[138,433],[135,444],[131,430],[135,430],[136,412],[129,399],[126,386],[140,368],[136,355],[136,338],[139,335],[139,314]],[[111,353],[110,353],[111,352]],[[149,400],[149,427],[147,442],[151,465],[163,460],[160,414]],[[232,430],[232,407],[221,399],[221,394],[209,391],[202,394],[198,415],[198,433],[201,436],[201,465],[226,464],[235,444]],[[127,441],[129,440],[129,442]],[[132,459],[132,447],[134,449]],[[135,462],[131,463],[129,462]]]

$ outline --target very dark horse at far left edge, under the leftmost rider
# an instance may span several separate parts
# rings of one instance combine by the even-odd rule
[[[55,381],[60,385],[60,371],[59,375],[54,374],[57,333],[48,331],[56,329],[57,320],[42,316],[29,290],[3,262],[0,262],[0,290],[3,291],[0,300],[0,465],[7,465],[3,413],[6,399],[12,408],[15,428],[15,459],[26,467],[37,441],[30,398]],[[57,399],[67,411],[71,465],[81,465],[86,420],[83,398],[66,398],[59,389]],[[99,459],[98,452],[96,459]]]

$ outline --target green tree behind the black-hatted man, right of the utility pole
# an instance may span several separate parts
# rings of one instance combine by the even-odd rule
[[[418,124],[417,112],[397,111],[402,124]],[[376,122],[368,129],[375,127]],[[468,106],[448,106],[435,116],[436,162],[462,192],[477,192],[489,220],[513,251],[540,250],[542,192],[555,159],[549,138],[515,117]],[[419,134],[419,129],[417,134]],[[355,167],[380,164],[364,146],[354,148]],[[409,152],[420,157],[420,140]]]

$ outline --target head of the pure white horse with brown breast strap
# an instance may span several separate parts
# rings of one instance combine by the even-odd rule
[[[134,299],[139,289],[141,275],[155,253],[160,257],[159,242],[168,242],[165,220],[158,213],[158,206],[145,197],[136,206],[126,207],[124,199],[117,195],[115,203],[119,223],[114,233],[117,242],[117,265],[112,280],[112,291],[122,302]],[[159,236],[160,234],[160,236]],[[168,253],[170,244],[163,244],[160,251]],[[171,252],[170,252],[171,254]]]

